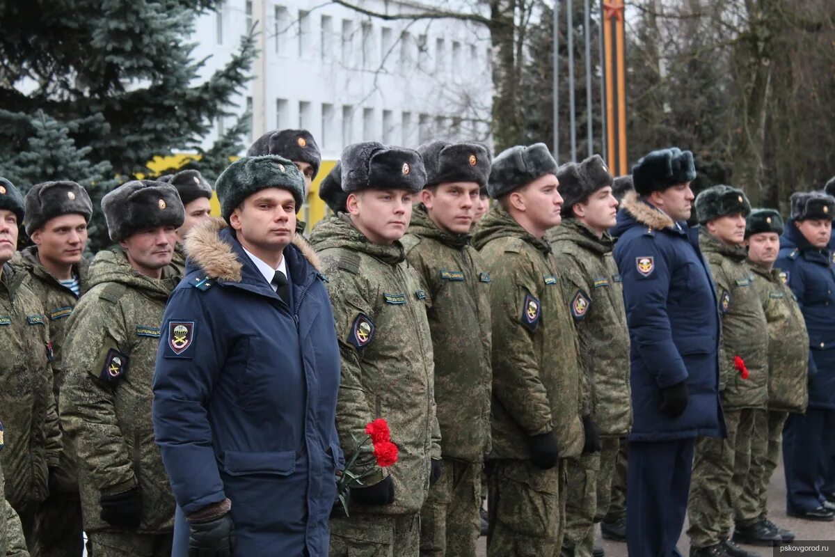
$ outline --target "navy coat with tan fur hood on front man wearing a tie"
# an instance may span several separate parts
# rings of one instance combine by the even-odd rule
[[[222,221],[192,232],[186,251],[154,377],[154,433],[177,504],[191,514],[229,498],[236,555],[326,557],[340,364],[316,256],[298,236],[286,247],[288,307]],[[175,555],[187,528],[180,514]]]

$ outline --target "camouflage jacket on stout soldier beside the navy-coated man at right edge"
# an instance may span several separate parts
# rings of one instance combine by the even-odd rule
[[[779,269],[749,265],[768,322],[768,409],[806,412],[809,333],[800,306]]]

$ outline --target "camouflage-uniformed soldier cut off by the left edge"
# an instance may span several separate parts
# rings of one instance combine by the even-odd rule
[[[31,548],[35,514],[48,495],[48,469],[57,468],[61,456],[61,433],[48,317],[26,273],[8,263],[24,212],[20,192],[0,178],[0,441],[5,445],[0,464],[6,499],[18,512]]]

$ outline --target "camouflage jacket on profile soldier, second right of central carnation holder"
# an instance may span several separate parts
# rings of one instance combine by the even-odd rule
[[[490,273],[493,451],[530,458],[528,438],[554,431],[560,457],[582,453],[583,392],[574,323],[544,240],[493,207],[473,235]]]

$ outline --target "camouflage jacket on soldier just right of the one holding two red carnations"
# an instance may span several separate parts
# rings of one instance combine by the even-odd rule
[[[402,244],[432,300],[441,454],[480,462],[490,451],[490,274],[470,236],[443,232],[423,205],[412,211]]]

